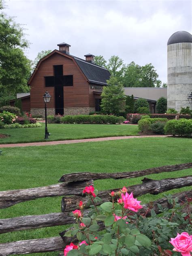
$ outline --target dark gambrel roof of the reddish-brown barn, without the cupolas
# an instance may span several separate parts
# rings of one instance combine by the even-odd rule
[[[36,69],[34,70],[32,76],[30,77],[28,84],[31,83],[36,71],[38,70],[38,67],[40,66],[41,62],[46,60],[47,58],[49,58],[51,55],[53,55],[54,53],[59,53],[60,55],[63,55],[67,58],[72,59],[75,64],[79,67],[79,69],[81,70],[81,72],[83,73],[84,77],[87,78],[87,81],[89,83],[96,83],[96,84],[100,84],[100,85],[107,85],[107,80],[109,80],[110,78],[110,73],[109,70],[107,70],[107,68],[103,68],[101,66],[98,66],[94,63],[91,62],[87,62],[86,60],[77,58],[73,55],[70,54],[66,54],[63,53],[61,51],[58,50],[54,50],[51,53],[49,53],[47,56],[45,56],[44,58],[42,58],[37,66]]]

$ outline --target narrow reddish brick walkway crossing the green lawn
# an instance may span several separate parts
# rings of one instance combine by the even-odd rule
[[[1,147],[28,147],[28,146],[47,146],[47,145],[59,145],[59,144],[72,144],[82,142],[95,142],[95,141],[115,141],[122,139],[133,139],[133,138],[154,138],[154,137],[167,137],[170,135],[147,135],[147,136],[119,136],[119,137],[105,137],[95,139],[77,139],[67,141],[45,141],[45,142],[30,142],[30,143],[18,143],[18,144],[0,144]]]

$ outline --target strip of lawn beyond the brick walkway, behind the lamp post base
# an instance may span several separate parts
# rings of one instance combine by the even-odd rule
[[[118,124],[48,124],[48,131],[49,141],[129,136],[139,132],[137,125]],[[45,141],[45,124],[40,128],[0,129],[0,133],[9,134],[0,138],[0,144]]]

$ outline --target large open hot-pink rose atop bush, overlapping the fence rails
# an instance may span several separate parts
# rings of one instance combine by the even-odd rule
[[[124,202],[124,208],[130,209],[132,211],[137,212],[139,209],[143,208],[140,203],[141,201],[137,201],[137,198],[133,198],[133,194],[122,194],[122,200]]]

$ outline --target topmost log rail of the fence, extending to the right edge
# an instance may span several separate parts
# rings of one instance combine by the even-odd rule
[[[64,174],[59,181],[73,182],[85,181],[89,179],[127,179],[142,177],[153,173],[173,172],[192,168],[192,163],[166,165],[162,167],[150,168],[142,171],[123,172],[123,173],[69,173]]]

